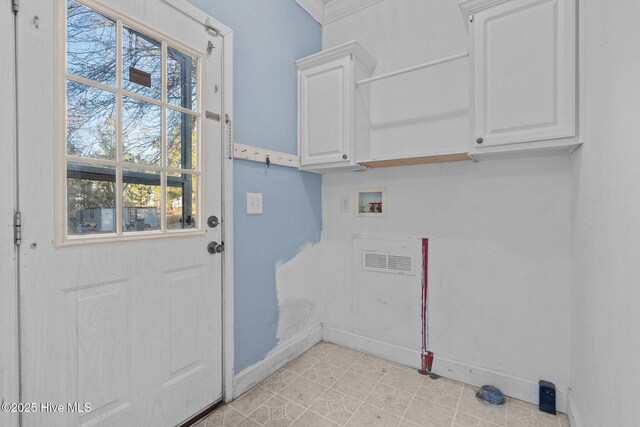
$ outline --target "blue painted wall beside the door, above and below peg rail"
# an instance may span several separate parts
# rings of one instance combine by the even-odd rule
[[[190,0],[234,33],[234,139],[297,153],[294,61],[321,50],[322,28],[295,0]],[[322,231],[321,178],[234,161],[235,370],[278,343],[276,264]],[[246,193],[263,193],[263,215]]]

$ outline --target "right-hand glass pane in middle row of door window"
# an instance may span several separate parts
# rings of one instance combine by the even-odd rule
[[[167,110],[168,166],[176,169],[195,169],[197,163],[196,117]]]

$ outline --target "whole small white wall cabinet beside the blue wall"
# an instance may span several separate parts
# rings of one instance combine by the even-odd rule
[[[296,61],[300,168],[357,168],[370,147],[369,88],[376,62],[357,42]]]

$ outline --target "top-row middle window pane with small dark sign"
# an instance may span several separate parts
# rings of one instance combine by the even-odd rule
[[[162,96],[162,47],[160,42],[124,27],[122,51],[124,89],[160,99]]]

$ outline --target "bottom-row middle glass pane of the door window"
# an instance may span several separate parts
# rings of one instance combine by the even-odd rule
[[[160,175],[154,172],[125,169],[123,171],[122,230],[151,231],[160,229]]]

